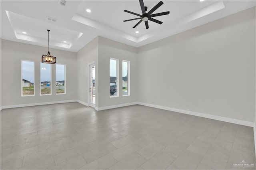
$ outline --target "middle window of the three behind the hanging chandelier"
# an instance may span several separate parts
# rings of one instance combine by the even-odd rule
[[[51,64],[48,63],[41,63],[41,73],[40,73],[40,94],[41,95],[51,95],[52,89],[52,72],[51,72]]]

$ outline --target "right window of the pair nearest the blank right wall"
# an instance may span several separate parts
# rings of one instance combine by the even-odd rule
[[[130,61],[123,60],[122,70],[122,94],[123,96],[130,95]]]

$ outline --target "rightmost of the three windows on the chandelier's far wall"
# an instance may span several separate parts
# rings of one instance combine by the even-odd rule
[[[66,71],[64,64],[56,64],[56,94],[66,94]]]

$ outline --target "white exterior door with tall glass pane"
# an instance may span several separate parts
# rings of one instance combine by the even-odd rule
[[[95,79],[95,63],[89,65],[89,105],[91,107],[96,106],[96,79]]]

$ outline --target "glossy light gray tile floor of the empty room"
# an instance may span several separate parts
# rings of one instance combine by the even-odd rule
[[[1,111],[1,170],[255,169],[253,128],[140,105]]]

